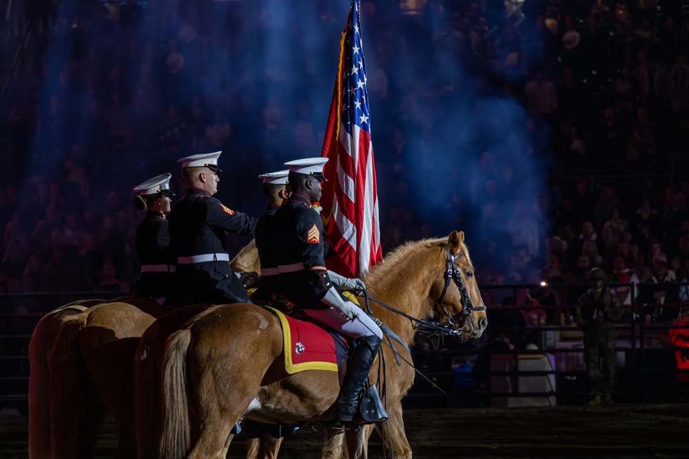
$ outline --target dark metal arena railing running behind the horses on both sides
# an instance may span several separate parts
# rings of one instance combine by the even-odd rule
[[[676,284],[687,288],[687,284]],[[616,325],[617,381],[613,398],[623,403],[686,398],[689,348],[669,339],[672,321],[654,321],[655,306],[635,302],[638,286],[629,288],[630,304]],[[570,405],[589,397],[582,332],[572,323],[582,285],[482,286],[486,297],[507,297],[529,306],[489,304],[489,329],[480,339],[418,338],[412,350],[418,370],[405,398],[407,407],[475,407]],[[127,292],[45,292],[0,295],[0,409],[25,412],[28,397],[28,343],[43,317],[58,306],[80,299],[112,299]],[[539,301],[540,299],[540,301]],[[548,299],[550,303],[546,303]],[[679,316],[684,303],[666,304]],[[536,319],[534,319],[536,318]],[[689,343],[687,343],[689,345]],[[402,363],[403,365],[405,363]],[[387,365],[396,365],[389,362]]]

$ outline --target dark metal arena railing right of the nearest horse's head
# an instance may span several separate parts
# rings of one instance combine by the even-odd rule
[[[689,325],[658,321],[654,315],[658,305],[635,301],[639,285],[607,284],[611,290],[629,291],[629,303],[623,304],[623,317],[615,324],[613,399],[626,403],[689,399],[689,347],[670,340],[670,330],[683,330],[689,346]],[[508,306],[489,304],[489,329],[480,339],[421,341],[413,352],[421,374],[405,405],[511,407],[588,401],[582,332],[573,323],[576,299],[587,288],[585,284],[482,286],[482,293],[495,294],[484,297],[513,301],[507,301]],[[672,288],[681,291],[681,298],[689,292],[686,282]],[[516,302],[528,306],[515,306]],[[662,307],[679,317],[689,305]]]

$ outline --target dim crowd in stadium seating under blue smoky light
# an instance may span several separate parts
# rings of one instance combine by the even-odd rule
[[[286,19],[285,27],[294,28],[287,35],[299,46],[280,58],[269,55],[260,32],[262,2],[182,1],[188,14],[180,17],[153,3],[27,10],[40,32],[24,54],[34,64],[25,62],[24,73],[10,79],[0,131],[17,168],[0,189],[1,292],[127,290],[138,274],[133,242],[142,218],[130,189],[163,164],[174,171],[182,153],[227,152],[234,164],[227,190],[255,190],[260,201],[258,173],[320,151],[325,120],[313,120],[305,104],[265,93],[285,81],[280,65],[295,63],[304,78],[289,83],[294,94],[306,97],[316,75],[328,75],[331,85],[333,50],[309,54],[322,50],[305,25]],[[223,6],[227,27],[220,29],[209,25],[218,3],[232,3]],[[491,217],[491,200],[509,202],[520,186],[519,166],[507,153],[477,148],[482,199],[449,195],[450,228],[405,206],[413,193],[405,160],[424,152],[444,104],[460,98],[464,86],[524,106],[533,151],[521,153],[546,158],[553,177],[549,196],[509,202],[514,217],[505,224],[521,225],[520,232],[475,237],[475,258],[507,254],[505,263],[482,257],[480,284],[580,282],[594,266],[611,281],[645,282],[659,264],[669,268],[667,279],[689,281],[689,176],[678,167],[689,145],[689,64],[682,51],[689,49],[688,16],[634,0],[526,0],[523,16],[499,1],[429,0],[415,15],[389,3],[362,6],[378,183],[388,184],[379,185],[384,250]],[[309,26],[342,21],[328,1],[314,4],[320,19]],[[19,26],[11,15],[3,20],[17,42]],[[9,38],[0,55],[3,76],[10,74]],[[49,53],[61,47],[62,61]],[[429,65],[429,49],[432,62],[448,68],[433,64],[433,78],[408,78],[405,68]],[[269,58],[256,62],[255,54]],[[218,62],[229,71],[216,72]],[[448,70],[453,66],[477,78],[460,77]],[[59,76],[46,82],[48,71]],[[70,129],[77,122],[83,128]],[[32,162],[31,151],[43,163]],[[141,152],[165,152],[167,162]],[[140,168],[136,179],[117,169],[121,164]],[[635,173],[625,175],[628,168]],[[242,206],[245,196],[234,202]],[[547,232],[532,231],[539,222],[549,224]],[[689,300],[683,290],[679,295]]]

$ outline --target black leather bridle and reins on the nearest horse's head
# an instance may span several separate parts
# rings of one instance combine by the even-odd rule
[[[486,306],[473,306],[473,303],[471,303],[469,290],[466,289],[466,284],[464,284],[464,279],[462,279],[462,271],[460,271],[460,268],[457,268],[457,264],[455,263],[455,260],[459,257],[462,257],[462,255],[464,255],[464,252],[457,253],[457,255],[452,255],[450,247],[447,244],[445,244],[445,255],[445,284],[442,288],[440,298],[438,298],[437,300],[438,306],[440,306],[440,308],[442,308],[442,311],[445,313],[444,319],[442,319],[441,321],[430,322],[422,319],[417,319],[416,317],[411,317],[409,314],[405,314],[404,312],[395,309],[392,306],[389,306],[376,298],[369,297],[369,295],[367,295],[367,293],[364,292],[364,297],[366,299],[366,306],[369,315],[371,315],[372,313],[371,308],[368,304],[370,298],[372,301],[375,301],[376,303],[380,304],[380,306],[383,306],[384,308],[387,308],[417,323],[418,325],[416,326],[416,331],[424,337],[458,336],[462,333],[462,330],[464,330],[467,323],[471,324],[471,328],[473,328],[473,323],[471,323],[471,321],[468,320],[469,315],[473,311],[486,310]],[[450,312],[444,306],[442,306],[442,299],[445,297],[447,288],[450,286],[452,281],[454,281],[455,286],[457,286],[457,289],[460,290],[460,295],[462,295],[462,310],[455,315],[450,314]],[[462,321],[463,319],[464,325],[462,325],[461,328],[456,328],[457,323],[459,321]]]

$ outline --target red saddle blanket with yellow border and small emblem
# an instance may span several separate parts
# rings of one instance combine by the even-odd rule
[[[285,343],[285,371],[288,374],[306,370],[338,371],[335,341],[328,332],[313,323],[289,317],[275,308],[274,312],[282,326],[282,341]]]

